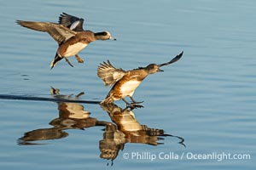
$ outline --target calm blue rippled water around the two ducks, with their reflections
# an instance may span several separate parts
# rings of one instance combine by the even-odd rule
[[[1,169],[255,168],[254,1],[27,0],[4,1],[0,9],[1,95],[53,99],[49,89],[54,87],[67,95],[84,92],[80,100],[100,101],[109,90],[96,77],[102,61],[130,70],[184,51],[183,59],[137,88],[134,98],[144,107],[123,113],[130,118],[127,127],[100,105],[0,99]],[[74,68],[61,61],[50,71],[56,43],[15,20],[55,22],[62,12],[83,17],[88,30],[110,31],[117,41],[93,42],[80,53],[83,65],[71,58]],[[120,114],[125,105],[119,101],[113,108]],[[84,119],[68,118],[72,111]],[[174,136],[156,140],[152,133],[142,134],[145,130],[132,132],[146,128],[141,125]],[[125,128],[125,137],[117,126]],[[25,133],[37,140],[20,140]],[[39,140],[43,137],[47,140]],[[101,158],[106,148],[113,161]],[[225,159],[228,154],[250,159]]]

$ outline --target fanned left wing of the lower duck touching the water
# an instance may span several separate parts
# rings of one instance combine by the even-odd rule
[[[98,66],[97,75],[102,78],[105,86],[113,86],[115,82],[125,76],[125,71],[116,69],[108,60],[107,63],[103,62]]]

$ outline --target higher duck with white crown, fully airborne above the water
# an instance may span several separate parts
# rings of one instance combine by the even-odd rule
[[[59,48],[57,48],[55,59],[50,63],[50,69],[53,69],[61,59],[66,59],[68,65],[73,67],[71,62],[67,59],[71,56],[75,56],[79,63],[83,63],[84,59],[81,59],[78,54],[90,42],[96,40],[116,40],[109,31],[84,31],[82,26],[83,21],[84,19],[79,19],[78,17],[64,13],[59,19],[61,24],[26,20],[16,20],[16,23],[34,31],[47,32],[54,38]]]

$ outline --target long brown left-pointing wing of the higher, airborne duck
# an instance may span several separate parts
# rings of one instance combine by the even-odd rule
[[[77,32],[72,31],[65,26],[51,22],[33,22],[16,20],[16,23],[20,26],[24,26],[35,31],[48,32],[49,35],[53,37],[55,41],[59,44],[61,44],[61,42],[67,41],[67,39],[77,34]]]

